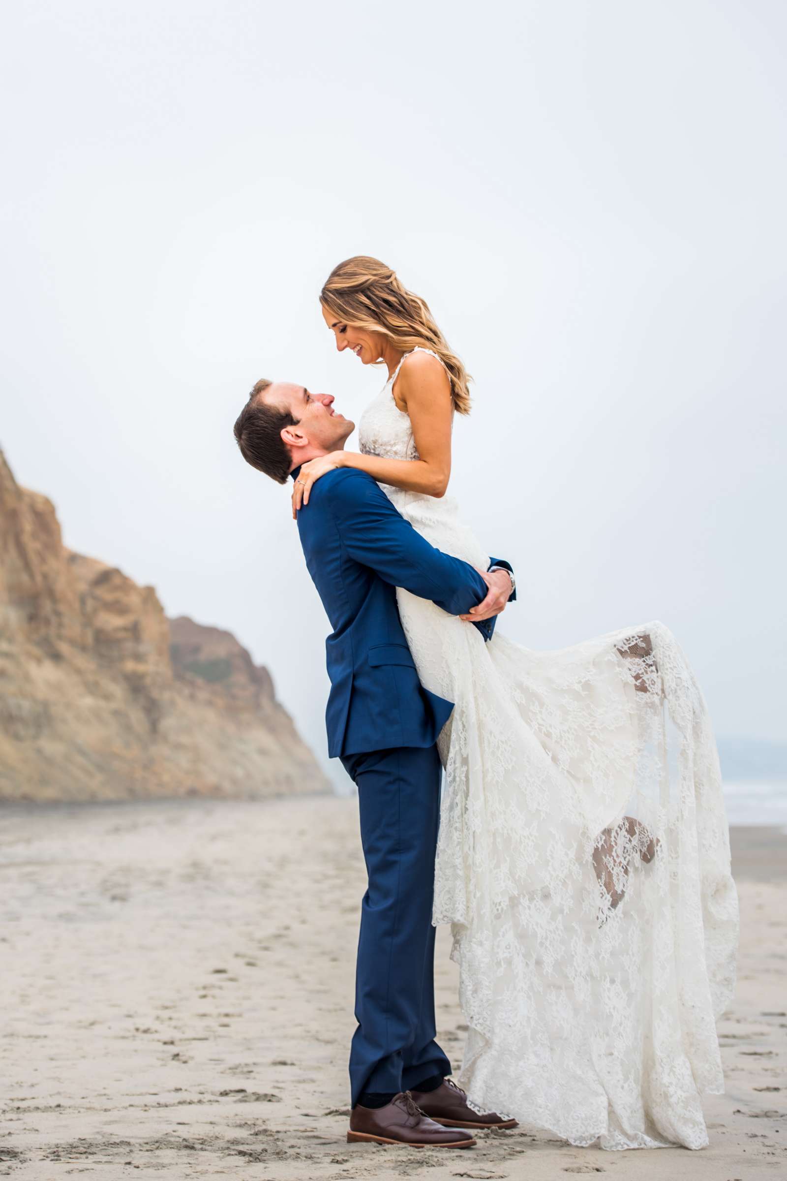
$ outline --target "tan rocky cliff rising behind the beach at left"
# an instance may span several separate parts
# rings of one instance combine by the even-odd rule
[[[327,788],[265,668],[63,546],[0,452],[0,800]]]

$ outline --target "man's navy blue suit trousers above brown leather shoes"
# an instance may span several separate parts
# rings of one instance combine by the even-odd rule
[[[432,896],[440,803],[437,746],[348,755],[358,785],[368,888],[361,903],[352,1103],[402,1091],[451,1063],[434,1040]]]

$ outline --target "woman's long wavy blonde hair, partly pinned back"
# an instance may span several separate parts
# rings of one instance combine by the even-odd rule
[[[320,302],[353,328],[381,332],[402,353],[417,345],[431,348],[448,371],[454,409],[470,413],[472,378],[448,347],[426,301],[408,292],[391,267],[366,254],[346,259],[328,275]]]

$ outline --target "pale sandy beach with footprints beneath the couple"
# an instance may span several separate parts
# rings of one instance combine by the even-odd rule
[[[736,828],[741,958],[710,1147],[604,1153],[520,1131],[348,1146],[363,868],[329,796],[0,809],[0,1175],[750,1181],[787,1168],[787,839]],[[463,1042],[438,932],[438,1037]],[[783,1175],[783,1172],[781,1173]]]

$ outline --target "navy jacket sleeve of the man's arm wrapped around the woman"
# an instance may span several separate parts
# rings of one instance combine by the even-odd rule
[[[486,598],[478,572],[429,546],[366,472],[342,469],[330,489],[330,505],[350,557],[392,586],[431,599],[452,615],[465,614]]]

